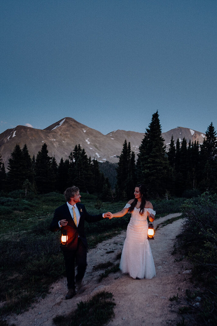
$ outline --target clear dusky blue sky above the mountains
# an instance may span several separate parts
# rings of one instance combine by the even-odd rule
[[[217,129],[217,1],[1,0],[0,133]]]

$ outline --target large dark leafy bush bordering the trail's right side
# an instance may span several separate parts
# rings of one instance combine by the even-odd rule
[[[182,212],[186,223],[178,245],[191,260],[193,282],[200,289],[197,296],[201,297],[196,308],[195,299],[186,296],[188,313],[198,326],[216,325],[217,195],[204,193],[199,198],[186,200]]]

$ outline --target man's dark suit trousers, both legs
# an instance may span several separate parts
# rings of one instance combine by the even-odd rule
[[[87,267],[87,248],[80,238],[76,250],[63,251],[68,289],[75,289],[75,282],[83,279]],[[75,276],[75,264],[77,274]]]

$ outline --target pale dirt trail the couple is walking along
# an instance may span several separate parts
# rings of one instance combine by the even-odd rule
[[[157,219],[154,227],[163,221],[180,214],[170,214]],[[66,279],[61,278],[52,284],[50,293],[45,299],[40,299],[32,307],[20,315],[7,317],[8,323],[17,326],[51,326],[52,319],[57,315],[67,315],[76,309],[77,303],[89,300],[95,293],[105,290],[112,292],[115,299],[115,318],[108,323],[115,325],[176,325],[181,317],[177,315],[177,307],[169,299],[184,296],[189,287],[190,271],[187,261],[174,261],[173,244],[175,237],[183,228],[183,219],[179,219],[164,227],[158,228],[155,239],[149,240],[156,267],[156,277],[151,280],[134,280],[120,271],[109,274],[98,282],[98,276],[103,271],[93,271],[93,266],[108,260],[115,264],[116,255],[121,252],[126,231],[122,231],[112,239],[103,241],[96,248],[88,251],[88,267],[84,277],[87,289],[83,294],[65,300],[67,292]],[[114,251],[112,253],[107,253]]]

